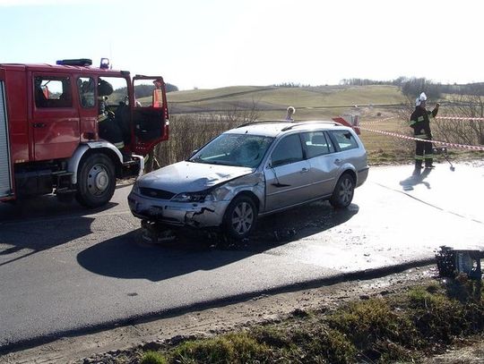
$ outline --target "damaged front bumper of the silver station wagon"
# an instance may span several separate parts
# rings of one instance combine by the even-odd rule
[[[134,216],[175,226],[213,227],[220,226],[230,201],[172,202],[150,199],[133,191],[128,204]]]

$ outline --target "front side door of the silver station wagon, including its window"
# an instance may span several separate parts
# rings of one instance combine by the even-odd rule
[[[299,134],[282,138],[272,150],[264,168],[266,211],[290,207],[310,199],[309,169]]]

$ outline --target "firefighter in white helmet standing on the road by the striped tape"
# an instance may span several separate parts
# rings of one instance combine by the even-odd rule
[[[427,95],[424,92],[415,100],[415,111],[411,114],[410,125],[413,129],[414,138],[423,140],[432,140],[430,131],[430,119],[436,117],[439,104],[432,111],[428,111],[425,106]],[[434,168],[432,156],[432,142],[415,140],[415,168],[422,168],[422,162],[425,160],[426,168]]]

